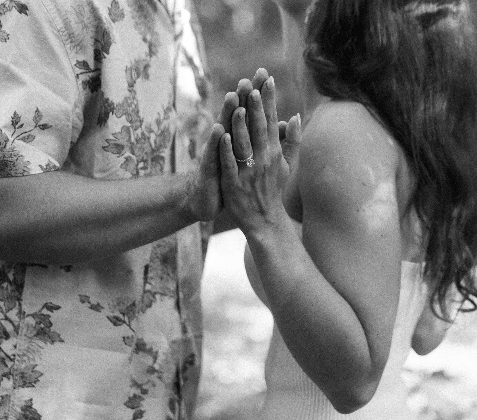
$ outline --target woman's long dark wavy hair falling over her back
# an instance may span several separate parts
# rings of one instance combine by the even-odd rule
[[[477,309],[477,39],[467,2],[317,0],[305,36],[321,94],[362,103],[414,164],[434,313],[449,321],[450,300]]]

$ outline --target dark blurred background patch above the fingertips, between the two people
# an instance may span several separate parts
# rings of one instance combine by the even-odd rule
[[[280,15],[270,0],[195,0],[213,83],[213,112],[218,115],[227,92],[259,67],[273,75],[277,110],[288,121],[301,103],[281,50]]]

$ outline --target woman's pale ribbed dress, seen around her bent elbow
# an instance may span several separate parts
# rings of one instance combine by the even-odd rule
[[[275,324],[265,366],[267,397],[263,420],[413,420],[406,407],[401,369],[411,349],[412,334],[424,308],[427,286],[421,265],[403,261],[401,291],[391,351],[373,399],[363,409],[336,411],[290,354]]]

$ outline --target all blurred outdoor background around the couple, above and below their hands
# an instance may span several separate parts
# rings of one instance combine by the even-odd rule
[[[270,0],[195,0],[213,82],[213,113],[239,79],[265,67],[279,119],[301,112],[283,63],[280,16]],[[239,230],[214,235],[203,276],[204,363],[195,420],[254,420],[273,320],[249,286]],[[431,354],[411,354],[403,377],[421,420],[477,420],[477,314],[463,314]]]

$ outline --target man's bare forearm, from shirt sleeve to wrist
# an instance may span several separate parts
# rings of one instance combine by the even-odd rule
[[[70,264],[165,237],[197,221],[186,177],[100,181],[57,171],[0,179],[0,259]]]

